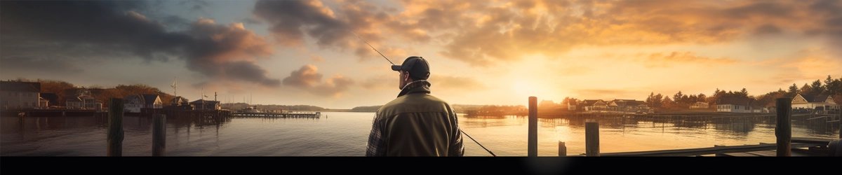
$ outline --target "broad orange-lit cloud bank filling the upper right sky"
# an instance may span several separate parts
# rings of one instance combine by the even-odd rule
[[[427,3],[406,2],[405,7]],[[820,3],[824,5],[815,6]],[[813,11],[819,7],[823,10]],[[842,31],[833,27],[840,10],[838,1],[471,3],[471,8],[446,14],[466,22],[441,29],[458,32],[439,53],[473,66],[491,66],[520,61],[525,55],[557,56],[579,46],[709,45],[784,29],[833,34]],[[425,18],[425,13],[415,14]]]

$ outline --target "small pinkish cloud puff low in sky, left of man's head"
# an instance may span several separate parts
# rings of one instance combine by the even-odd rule
[[[305,65],[290,72],[290,77],[285,77],[283,83],[286,86],[301,88],[318,96],[336,98],[347,92],[349,87],[354,85],[354,80],[337,74],[322,82],[322,74],[318,73],[318,68]]]

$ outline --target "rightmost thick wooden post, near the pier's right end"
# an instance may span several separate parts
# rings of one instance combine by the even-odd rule
[[[792,125],[790,115],[792,114],[792,98],[775,99],[777,108],[777,125],[775,125],[775,137],[777,137],[777,156],[791,156]]]

